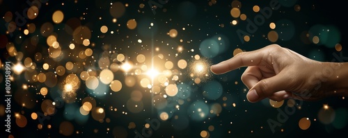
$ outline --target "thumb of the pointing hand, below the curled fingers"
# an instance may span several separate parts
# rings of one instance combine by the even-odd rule
[[[271,78],[260,80],[256,85],[251,87],[248,94],[246,94],[246,98],[251,103],[255,103],[276,92],[286,90],[288,85],[290,85],[289,80],[285,78],[285,75],[280,73]]]

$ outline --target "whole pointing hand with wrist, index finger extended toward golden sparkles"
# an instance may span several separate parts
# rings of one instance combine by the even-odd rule
[[[211,71],[225,74],[240,67],[247,67],[242,82],[249,89],[246,98],[252,103],[264,98],[318,101],[348,95],[347,63],[311,60],[278,44],[239,53],[212,65]]]

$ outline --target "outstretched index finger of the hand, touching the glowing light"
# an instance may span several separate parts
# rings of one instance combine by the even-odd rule
[[[226,72],[238,69],[239,67],[256,66],[262,61],[264,53],[264,49],[238,53],[229,60],[212,65],[210,70],[214,74],[225,74]]]

